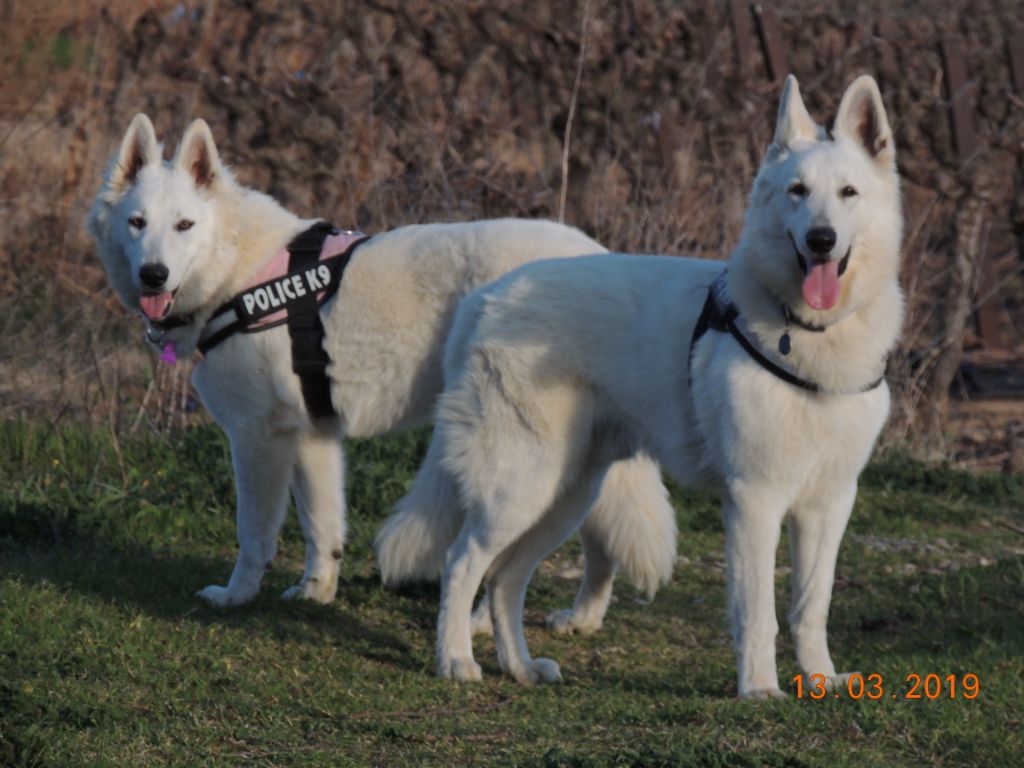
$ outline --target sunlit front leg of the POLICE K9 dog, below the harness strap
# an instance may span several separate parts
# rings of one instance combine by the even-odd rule
[[[345,456],[335,420],[299,438],[292,493],[306,542],[306,569],[282,597],[329,603],[338,591],[345,544]]]

